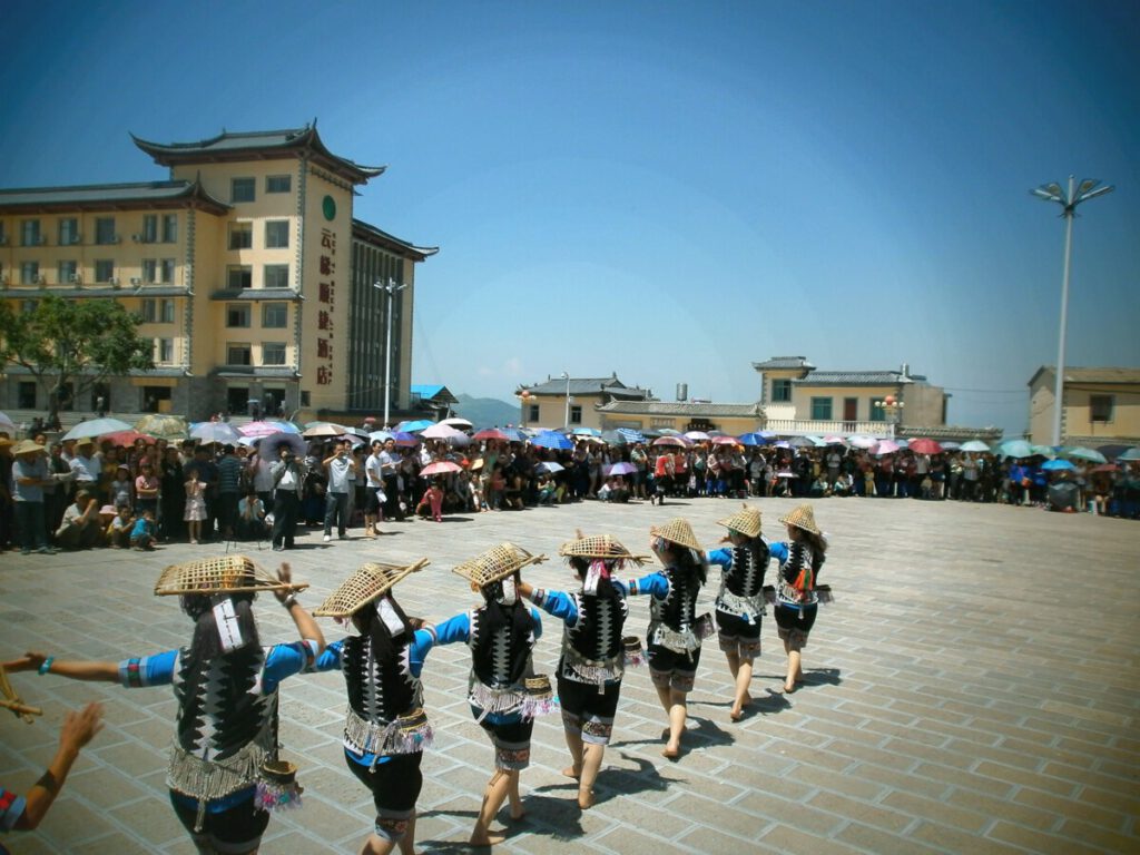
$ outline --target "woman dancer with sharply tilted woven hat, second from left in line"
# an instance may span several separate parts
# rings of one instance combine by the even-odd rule
[[[432,738],[420,671],[433,636],[414,628],[392,587],[426,565],[426,559],[407,567],[365,564],[312,612],[351,621],[359,633],[329,644],[317,670],[344,674],[344,762],[376,805],[375,832],[360,855],[388,855],[397,846],[404,855],[415,852],[420,762]]]

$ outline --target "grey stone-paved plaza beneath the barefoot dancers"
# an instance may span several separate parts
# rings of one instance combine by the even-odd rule
[[[758,500],[765,534],[790,499]],[[293,552],[244,549],[266,567],[285,556],[315,608],[369,559],[432,565],[398,588],[409,613],[442,620],[474,604],[451,573],[502,540],[552,561],[524,577],[573,581],[556,557],[576,528],[610,531],[648,552],[649,528],[674,515],[707,546],[724,499],[524,512],[389,523],[377,540]],[[764,624],[746,719],[728,719],[730,675],[707,643],[679,762],[661,757],[665,714],[645,669],[626,677],[597,805],[578,811],[557,716],[535,727],[522,774],[528,815],[505,823],[504,853],[1125,853],[1140,850],[1140,524],[1089,514],[917,500],[825,499],[816,520],[831,539],[821,606],[805,651],[806,685],[781,690],[783,650]],[[221,552],[176,545],[153,554],[97,551],[0,556],[0,657],[41,649],[59,658],[121,659],[185,644],[190,625],[152,591],[169,564]],[[774,569],[769,569],[769,579]],[[711,605],[710,571],[700,611]],[[271,597],[258,603],[264,642],[295,637]],[[648,602],[632,601],[644,635]],[[328,641],[339,627],[320,621]],[[560,625],[544,616],[538,670],[553,671]],[[417,850],[463,852],[491,748],[465,702],[467,649],[441,648],[424,668],[435,727],[424,756]],[[83,752],[41,829],[3,839],[15,853],[193,853],[164,787],[173,732],[169,687],[123,690],[48,675],[16,675],[42,706],[28,726],[0,718],[0,781],[26,791],[50,759],[66,709],[106,703],[106,727]],[[282,735],[301,767],[304,807],[274,817],[263,853],[350,853],[373,821],[368,793],[344,767],[345,695],[339,674],[282,689]],[[506,819],[504,808],[500,819]]]

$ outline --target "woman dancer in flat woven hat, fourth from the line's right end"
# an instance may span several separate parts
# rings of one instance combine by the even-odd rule
[[[573,568],[581,591],[565,594],[523,581],[519,593],[565,622],[557,679],[572,764],[562,774],[578,779],[578,807],[585,811],[594,805],[594,782],[613,731],[625,675],[621,629],[629,608],[610,577],[626,561],[641,564],[642,559],[609,535],[583,537],[581,532],[562,544],[559,554]]]

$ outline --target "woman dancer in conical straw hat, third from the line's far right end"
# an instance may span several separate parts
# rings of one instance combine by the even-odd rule
[[[679,516],[661,528],[650,529],[653,553],[663,570],[630,580],[625,589],[630,595],[651,594],[646,649],[649,674],[657,695],[669,718],[668,741],[661,754],[670,760],[681,756],[681,738],[685,732],[687,695],[693,691],[697,663],[701,659],[701,637],[706,629],[698,626],[697,596],[705,584],[705,553],[692,526]],[[709,632],[711,627],[709,627]]]

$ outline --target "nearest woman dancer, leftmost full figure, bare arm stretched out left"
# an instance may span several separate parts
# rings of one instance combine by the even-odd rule
[[[9,670],[36,668],[127,689],[173,685],[174,746],[170,803],[199,853],[255,853],[269,824],[259,806],[263,764],[277,759],[277,687],[310,667],[324,637],[300,606],[288,564],[274,579],[250,559],[229,555],[166,568],[155,593],[179,595],[194,621],[189,646],[115,662],[60,661],[27,653]],[[271,591],[293,618],[300,642],[261,646],[253,600]]]

